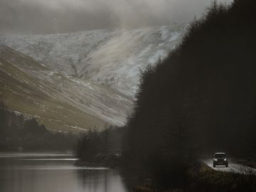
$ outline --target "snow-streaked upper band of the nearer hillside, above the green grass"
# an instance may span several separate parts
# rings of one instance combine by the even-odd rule
[[[122,93],[92,82],[68,78],[9,47],[0,45],[0,58],[29,75],[33,81],[40,82],[38,89],[49,97],[68,103],[109,124],[123,124],[132,110],[131,98]]]

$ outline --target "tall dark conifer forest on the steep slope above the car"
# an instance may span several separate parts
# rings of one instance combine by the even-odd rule
[[[124,162],[165,186],[198,154],[256,151],[256,1],[213,2],[181,45],[144,73]]]

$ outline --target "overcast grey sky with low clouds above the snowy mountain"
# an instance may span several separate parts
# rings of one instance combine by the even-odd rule
[[[0,33],[66,33],[188,23],[201,16],[211,1],[0,0]]]

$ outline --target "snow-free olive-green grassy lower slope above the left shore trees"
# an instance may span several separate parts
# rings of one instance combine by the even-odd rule
[[[53,130],[81,132],[104,127],[102,119],[49,97],[40,86],[41,82],[0,58],[0,100],[11,110],[35,117]]]

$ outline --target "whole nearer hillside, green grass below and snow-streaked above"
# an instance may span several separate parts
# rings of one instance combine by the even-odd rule
[[[48,129],[101,129],[105,123],[123,124],[132,110],[129,97],[53,73],[6,46],[0,46],[0,61],[0,99]]]

